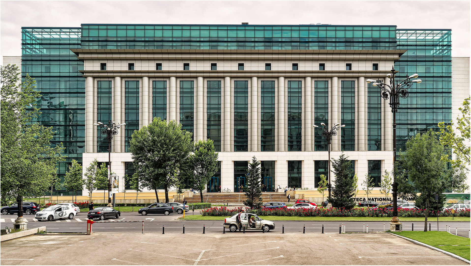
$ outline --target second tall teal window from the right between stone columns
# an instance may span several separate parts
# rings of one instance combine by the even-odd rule
[[[355,150],[355,81],[341,81],[341,149]]]

